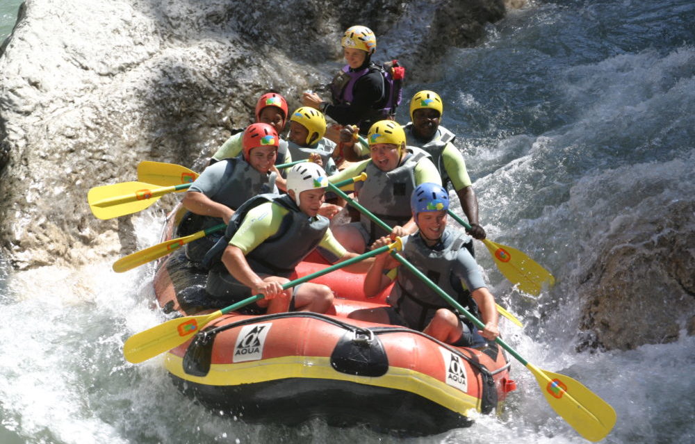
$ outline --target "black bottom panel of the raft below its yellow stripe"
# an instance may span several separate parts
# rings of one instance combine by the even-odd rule
[[[351,381],[289,378],[227,387],[170,376],[179,390],[208,409],[245,422],[299,425],[321,418],[333,427],[367,425],[409,436],[439,434],[472,423],[414,393]]]

